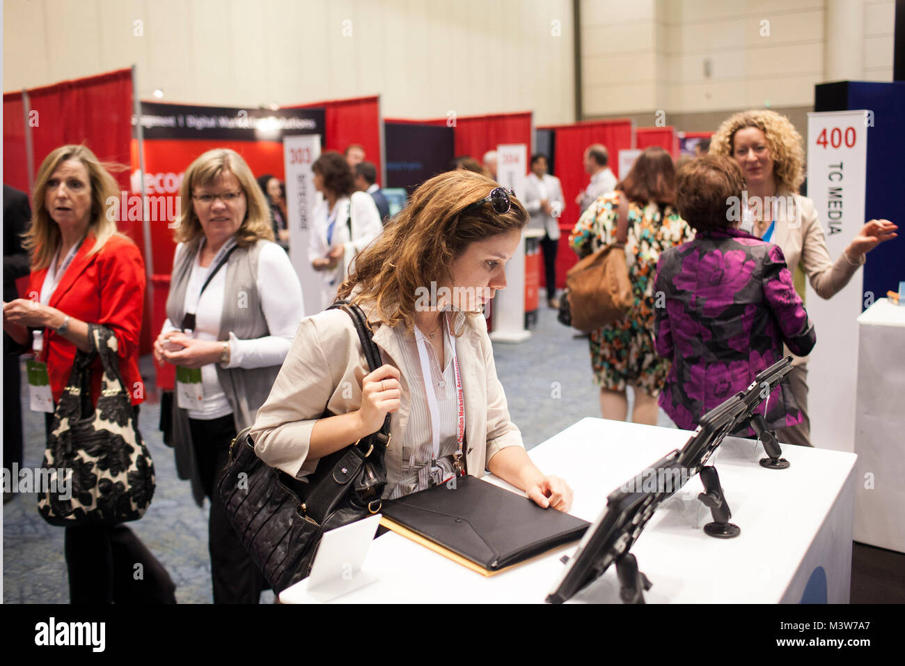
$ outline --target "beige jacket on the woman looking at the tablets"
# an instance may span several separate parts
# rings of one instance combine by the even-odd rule
[[[392,329],[376,323],[373,310],[362,309],[371,322],[383,362],[399,368],[395,359],[401,350]],[[462,327],[464,333],[457,338],[456,352],[465,399],[463,449],[468,473],[480,477],[488,460],[500,449],[524,445],[519,429],[510,420],[483,318],[458,314],[453,330],[462,331]],[[293,477],[310,474],[318,463],[308,457],[315,421],[325,411],[345,414],[357,410],[361,405],[360,378],[368,372],[348,314],[329,310],[301,320],[271,394],[252,427],[255,452],[268,465]],[[399,410],[391,415],[393,439],[386,449],[387,492],[405,476],[402,445],[411,391],[405,375],[400,383],[402,397]]]

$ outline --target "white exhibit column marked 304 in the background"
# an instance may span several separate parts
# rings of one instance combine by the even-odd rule
[[[528,171],[528,147],[524,143],[497,146],[497,182],[524,196]],[[515,255],[506,264],[506,288],[491,301],[495,343],[522,343],[531,337],[525,330],[525,236],[522,234]]]

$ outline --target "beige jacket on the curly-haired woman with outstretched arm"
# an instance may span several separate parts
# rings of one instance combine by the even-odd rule
[[[788,192],[779,191],[776,197],[788,197]],[[864,265],[864,256],[861,256],[859,262],[853,263],[842,252],[833,262],[826,249],[824,227],[814,210],[814,201],[797,194],[793,195],[792,201],[793,205],[779,206],[771,242],[782,249],[792,275],[795,275],[795,268],[800,265],[814,291],[821,298],[830,298],[848,285],[852,276]],[[800,295],[804,300],[805,294]],[[817,331],[817,343],[820,343],[820,331]],[[785,352],[792,353],[787,348]],[[795,365],[804,362],[807,362],[806,356],[795,357]]]

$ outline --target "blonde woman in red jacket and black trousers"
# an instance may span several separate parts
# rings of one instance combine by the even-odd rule
[[[20,351],[33,344],[35,359],[47,364],[56,405],[76,352],[90,349],[88,324],[110,329],[138,418],[145,395],[138,372],[145,265],[135,243],[107,216],[108,198],[119,202],[119,185],[85,146],[62,146],[44,159],[24,240],[32,256],[27,293],[39,295],[5,304],[4,330]],[[93,403],[101,374],[99,359],[91,366]],[[51,420],[45,414],[48,431]],[[71,603],[176,603],[176,585],[128,527],[69,526],[64,544]],[[133,575],[137,564],[141,579]]]

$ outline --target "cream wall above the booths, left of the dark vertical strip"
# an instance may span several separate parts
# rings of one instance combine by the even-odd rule
[[[5,0],[3,89],[136,63],[144,99],[380,93],[385,117],[533,110],[567,123],[573,34],[570,0]]]

